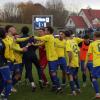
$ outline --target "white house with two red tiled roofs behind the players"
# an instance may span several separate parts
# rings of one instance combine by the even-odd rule
[[[65,27],[75,29],[76,32],[87,28],[99,28],[100,10],[81,9],[78,16],[69,16]]]

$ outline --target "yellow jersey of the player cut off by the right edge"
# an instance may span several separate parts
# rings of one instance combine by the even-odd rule
[[[90,44],[88,54],[93,54],[93,67],[100,66],[100,40]]]

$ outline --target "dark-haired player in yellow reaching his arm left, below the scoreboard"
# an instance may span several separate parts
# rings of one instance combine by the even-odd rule
[[[46,55],[47,55],[49,73],[52,80],[52,84],[55,85],[57,92],[61,92],[62,88],[56,74],[58,69],[58,56],[55,51],[54,36],[52,35],[53,31],[54,30],[52,27],[46,27],[45,28],[46,35],[42,37],[35,36],[35,39],[45,42]]]

